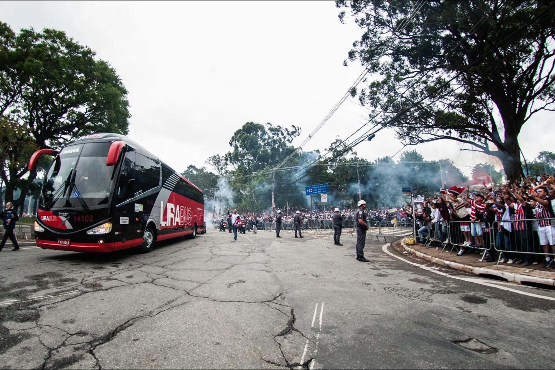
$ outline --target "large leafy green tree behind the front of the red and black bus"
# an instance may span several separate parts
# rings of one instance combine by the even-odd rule
[[[125,134],[128,105],[122,81],[90,48],[54,29],[16,34],[0,22],[0,115],[34,148],[57,149],[93,132]],[[3,162],[0,172],[6,201],[16,206],[37,176],[24,162]],[[14,199],[16,184],[21,195]]]

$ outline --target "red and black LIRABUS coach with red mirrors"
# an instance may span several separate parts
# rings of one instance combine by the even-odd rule
[[[34,223],[37,246],[113,252],[205,232],[203,192],[129,138],[114,133],[80,137],[55,156],[41,189]]]

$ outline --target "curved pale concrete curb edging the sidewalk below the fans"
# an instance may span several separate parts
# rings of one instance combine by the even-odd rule
[[[416,249],[408,247],[405,243],[406,238],[401,239],[401,245],[405,251],[420,257],[422,259],[426,259],[426,261],[430,261],[432,263],[438,264],[443,267],[450,267],[452,269],[456,269],[459,271],[475,274],[475,275],[493,275],[498,276],[503,279],[507,279],[509,282],[519,283],[519,284],[526,284],[526,283],[533,283],[533,284],[541,284],[546,285],[549,287],[555,286],[555,279],[549,278],[541,278],[537,276],[529,276],[523,275],[518,273],[510,273],[506,271],[498,271],[492,268],[487,267],[475,267],[475,266],[468,266],[467,264],[457,263],[453,261],[447,261],[446,259],[441,259],[437,257],[432,257],[426,253],[418,252]]]

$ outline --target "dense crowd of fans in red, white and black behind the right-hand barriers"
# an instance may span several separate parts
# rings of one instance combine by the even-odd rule
[[[555,267],[554,177],[442,190],[415,204],[418,239],[459,246],[458,256],[483,252],[485,261]]]

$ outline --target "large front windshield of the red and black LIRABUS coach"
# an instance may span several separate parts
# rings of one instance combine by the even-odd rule
[[[108,204],[116,166],[106,166],[110,143],[85,143],[62,149],[48,169],[41,208],[88,208]]]

